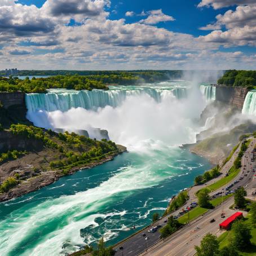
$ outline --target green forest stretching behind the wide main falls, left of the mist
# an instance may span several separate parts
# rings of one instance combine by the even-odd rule
[[[47,74],[47,72],[43,72]],[[50,72],[49,72],[50,73]],[[58,72],[57,72],[58,73]],[[72,73],[72,72],[70,72]],[[45,93],[47,89],[73,89],[73,90],[108,90],[108,85],[134,85],[139,82],[157,82],[170,79],[168,72],[161,71],[136,71],[136,72],[85,72],[80,74],[56,75],[45,78],[27,77],[24,80],[18,77],[0,77],[0,91],[25,93]],[[79,73],[79,72],[78,72]],[[80,72],[82,73],[82,72]],[[37,72],[30,72],[37,75]],[[82,73],[83,74],[83,73]],[[180,76],[180,73],[173,72],[172,76]]]

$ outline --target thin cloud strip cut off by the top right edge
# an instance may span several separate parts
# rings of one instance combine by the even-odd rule
[[[212,6],[216,10],[223,7],[234,5],[249,5],[251,3],[255,3],[255,0],[202,0],[198,4],[198,7]]]

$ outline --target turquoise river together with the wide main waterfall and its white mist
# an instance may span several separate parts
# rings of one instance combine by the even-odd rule
[[[193,143],[207,94],[168,81],[27,95],[28,117],[41,127],[107,129],[125,145],[113,161],[66,176],[0,204],[0,255],[65,255],[104,237],[108,245],[151,223],[171,196],[211,166],[178,146]]]

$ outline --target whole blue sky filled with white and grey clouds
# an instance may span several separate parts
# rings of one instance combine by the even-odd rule
[[[256,0],[0,0],[0,69],[255,69]]]

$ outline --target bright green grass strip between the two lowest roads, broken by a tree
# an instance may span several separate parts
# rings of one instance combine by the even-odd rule
[[[223,201],[227,200],[227,198],[229,198],[231,196],[233,196],[233,195],[230,194],[227,196],[223,196]],[[215,199],[211,200],[210,202],[215,207],[215,206],[221,204],[222,197],[215,198]],[[209,211],[209,209],[197,206],[195,209],[189,211],[189,221],[196,219],[197,217],[201,216],[202,214],[206,213],[207,211]],[[181,224],[187,223],[188,222],[188,213],[184,214],[178,220],[179,220],[179,223],[181,223]]]

